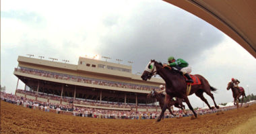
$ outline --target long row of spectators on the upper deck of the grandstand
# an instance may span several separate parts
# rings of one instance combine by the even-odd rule
[[[37,76],[43,76],[48,78],[56,78],[60,80],[70,80],[73,82],[82,82],[87,84],[96,84],[101,86],[113,86],[118,88],[131,88],[135,90],[159,90],[156,86],[146,86],[146,85],[140,85],[140,84],[131,84],[131,83],[125,83],[125,82],[113,82],[109,80],[99,80],[95,78],[86,78],[82,76],[73,76],[69,74],[60,74],[57,72],[48,72],[44,70],[36,70],[32,68],[15,68],[16,72],[22,72],[26,74],[33,74]]]

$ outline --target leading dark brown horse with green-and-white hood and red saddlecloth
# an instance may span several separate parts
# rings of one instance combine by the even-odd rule
[[[164,107],[157,121],[160,121],[164,116],[164,112],[166,111],[168,105],[167,102],[172,97],[183,98],[187,103],[189,109],[195,115],[195,118],[197,118],[197,113],[195,113],[195,111],[193,110],[193,107],[189,102],[189,98],[187,97],[187,82],[184,76],[181,75],[181,72],[179,72],[178,70],[174,70],[173,68],[163,68],[161,63],[158,63],[155,60],[151,60],[150,63],[146,66],[146,70],[144,70],[143,74],[141,75],[141,78],[142,80],[148,80],[156,74],[161,76],[162,79],[166,82],[166,97],[164,100]],[[211,96],[212,100],[214,100],[214,94],[212,94],[211,90],[215,91],[217,89],[210,86],[209,82],[205,78],[203,78],[203,76],[199,74],[195,74],[195,76],[197,76],[197,78],[201,80],[201,84],[191,86],[191,91],[189,92],[189,95],[195,93],[195,95],[197,95],[199,98],[201,98],[201,100],[203,100],[206,103],[209,109],[214,109],[214,107],[210,107],[209,103],[204,98],[203,92]],[[219,109],[219,107],[216,105],[215,100],[214,105],[217,109]]]

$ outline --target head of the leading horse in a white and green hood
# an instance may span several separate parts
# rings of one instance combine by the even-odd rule
[[[154,74],[156,74],[156,66],[155,60],[151,60],[144,70],[143,74],[141,75],[142,80],[150,80]]]

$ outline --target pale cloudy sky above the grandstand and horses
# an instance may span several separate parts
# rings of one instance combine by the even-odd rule
[[[216,103],[233,100],[231,78],[256,94],[256,59],[222,31],[199,17],[160,0],[1,1],[1,86],[15,92],[18,56],[34,54],[77,64],[79,56],[108,56],[108,62],[132,61],[133,73],[150,60],[183,58],[191,74],[215,88]],[[104,59],[99,59],[104,60]],[[24,88],[22,82],[18,88]],[[204,94],[210,105],[212,99]],[[193,107],[203,101],[189,96]]]

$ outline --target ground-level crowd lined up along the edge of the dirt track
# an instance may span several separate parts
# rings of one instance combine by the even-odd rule
[[[41,94],[41,96],[43,96]],[[46,96],[49,97],[49,96]],[[94,118],[106,118],[106,119],[156,119],[160,115],[160,112],[156,111],[117,111],[117,110],[109,110],[109,109],[95,109],[90,107],[75,107],[73,103],[69,103],[68,105],[61,105],[58,103],[47,103],[41,102],[38,100],[32,100],[25,98],[23,96],[15,96],[14,94],[8,94],[5,92],[1,92],[1,100],[4,100],[8,103],[13,103],[16,105],[20,105],[22,107],[28,107],[30,109],[41,110],[45,112],[55,112],[55,113],[62,113],[68,114],[73,116],[79,117],[94,117]],[[255,102],[254,102],[255,103]],[[91,104],[89,104],[91,105]],[[110,104],[108,105],[110,107]],[[230,109],[236,109],[236,106],[229,106],[229,107],[221,107],[220,109],[198,109],[195,111],[199,115],[204,115],[208,113],[216,113],[219,111],[228,111]],[[175,115],[182,115],[182,116],[190,116],[193,115],[191,111],[187,110],[188,115],[184,115],[181,110],[173,111]],[[174,117],[170,115],[170,113],[166,112],[165,117]]]

